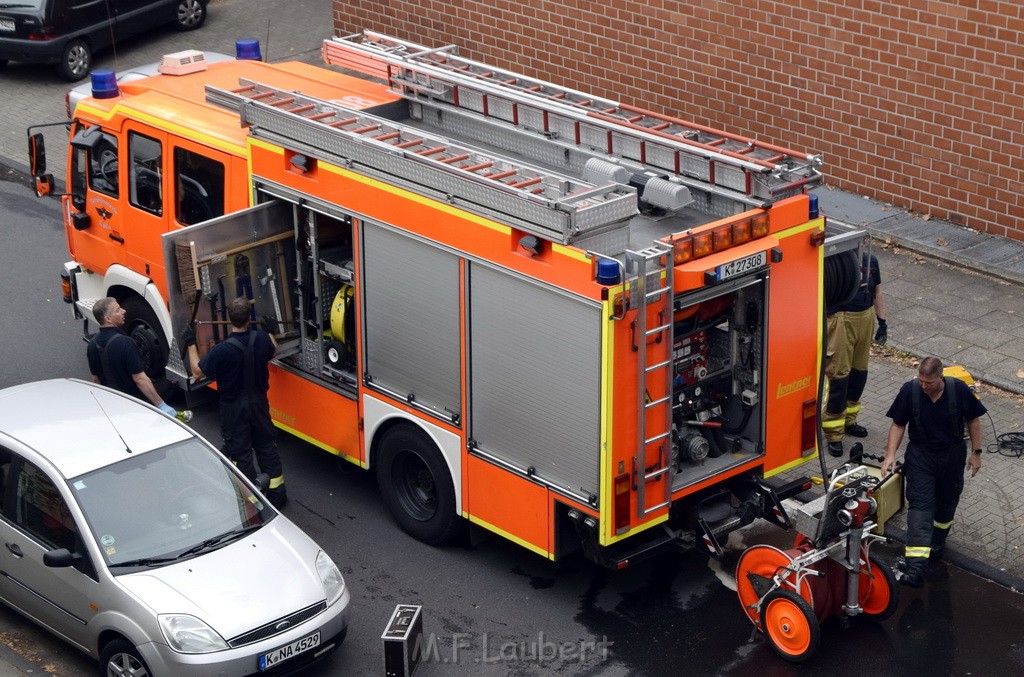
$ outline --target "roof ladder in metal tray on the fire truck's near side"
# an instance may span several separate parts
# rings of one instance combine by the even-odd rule
[[[249,80],[230,90],[207,85],[206,94],[238,111],[254,136],[357,164],[548,240],[567,244],[586,224],[636,213],[632,188],[583,181],[332,101]]]

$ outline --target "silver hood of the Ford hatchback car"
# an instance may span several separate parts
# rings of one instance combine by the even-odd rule
[[[325,599],[318,546],[286,517],[193,559],[118,577],[156,613],[190,613],[225,639]]]

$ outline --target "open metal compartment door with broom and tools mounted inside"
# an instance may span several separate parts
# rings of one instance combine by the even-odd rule
[[[299,349],[290,302],[296,278],[294,224],[293,205],[273,200],[161,237],[171,355],[179,353],[178,336],[189,323],[201,355],[226,338],[230,329],[220,308],[236,296],[249,298],[253,320],[280,321],[279,359]],[[168,370],[185,380],[179,359],[172,358]]]

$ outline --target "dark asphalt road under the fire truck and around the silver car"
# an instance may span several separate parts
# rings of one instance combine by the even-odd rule
[[[38,200],[24,176],[0,174],[0,387],[87,377],[81,327],[59,298],[65,260],[57,203]],[[997,395],[993,395],[997,396]],[[217,438],[212,395],[188,403],[196,428]],[[59,414],[55,412],[54,414]],[[291,502],[286,514],[341,565],[353,593],[353,625],[314,676],[383,674],[380,636],[395,604],[421,604],[433,649],[417,671],[431,675],[876,675],[1018,674],[1024,598],[955,566],[936,567],[929,587],[905,593],[874,623],[836,619],[822,628],[812,663],[795,667],[757,639],[733,591],[745,545],[785,547],[792,534],[748,530],[722,561],[666,554],[622,572],[582,559],[549,562],[498,539],[433,548],[390,520],[374,476],[282,435]],[[266,594],[274,594],[272,581]],[[0,640],[55,675],[95,664],[31,623],[3,611]]]

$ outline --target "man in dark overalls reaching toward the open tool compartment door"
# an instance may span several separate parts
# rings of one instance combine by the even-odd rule
[[[250,327],[250,313],[248,298],[240,296],[232,300],[227,306],[230,337],[214,345],[202,359],[190,328],[182,332],[181,345],[193,377],[217,381],[224,455],[250,479],[255,480],[258,472],[269,475],[266,497],[283,508],[288,502],[285,473],[274,443],[266,396],[270,387],[267,365],[278,350],[278,343],[270,334]],[[254,454],[258,469],[253,463]]]

